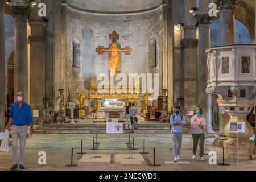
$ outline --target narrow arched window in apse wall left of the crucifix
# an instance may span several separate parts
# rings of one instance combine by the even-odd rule
[[[72,42],[72,67],[81,68],[80,42],[76,38],[74,38]]]

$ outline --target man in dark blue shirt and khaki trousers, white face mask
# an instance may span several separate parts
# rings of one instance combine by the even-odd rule
[[[27,139],[27,128],[30,125],[31,135],[34,133],[32,111],[30,105],[23,101],[24,94],[22,92],[17,93],[17,101],[11,105],[10,119],[7,123],[5,130],[9,129],[11,125],[11,136],[13,138],[13,166],[11,170],[18,168],[17,165],[17,150],[18,150],[18,139],[20,147],[19,155],[19,168],[24,169],[24,155]]]

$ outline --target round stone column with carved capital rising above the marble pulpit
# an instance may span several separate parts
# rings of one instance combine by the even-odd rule
[[[236,9],[236,0],[216,0],[218,9],[220,9],[220,44],[221,46],[234,44],[234,9]]]

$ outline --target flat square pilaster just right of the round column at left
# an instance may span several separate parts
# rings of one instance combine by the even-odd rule
[[[39,117],[35,119],[36,123],[42,124],[43,98],[44,98],[44,22],[31,21],[30,40],[30,103],[32,110],[39,111]]]

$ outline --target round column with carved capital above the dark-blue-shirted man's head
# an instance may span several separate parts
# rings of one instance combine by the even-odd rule
[[[30,7],[27,1],[10,3],[15,18],[14,93],[22,91],[28,97],[27,19]]]

